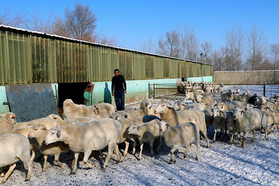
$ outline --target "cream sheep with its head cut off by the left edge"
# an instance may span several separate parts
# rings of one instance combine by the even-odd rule
[[[28,166],[25,181],[30,179],[32,162],[30,160],[30,143],[27,137],[20,134],[0,135],[0,167],[10,165],[1,183],[5,183],[16,167],[16,162],[21,160]],[[2,168],[0,173],[3,173]]]

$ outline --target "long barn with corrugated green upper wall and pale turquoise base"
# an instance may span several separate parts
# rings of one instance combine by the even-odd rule
[[[149,83],[201,81],[202,76],[200,62],[0,25],[0,112],[9,111],[2,104],[7,102],[5,85],[14,84],[51,83],[59,107],[66,98],[78,104],[84,97],[91,97],[91,104],[114,102],[115,68],[126,79],[126,103],[147,98]],[[203,63],[203,79],[212,82],[212,75],[213,66]]]

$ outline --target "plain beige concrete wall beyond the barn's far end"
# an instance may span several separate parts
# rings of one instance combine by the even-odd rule
[[[236,85],[279,84],[279,70],[214,71],[213,83]]]

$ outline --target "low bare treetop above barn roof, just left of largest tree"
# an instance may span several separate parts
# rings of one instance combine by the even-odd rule
[[[52,24],[51,24],[52,13],[48,16],[47,20],[44,20],[41,15],[34,12],[30,18],[25,17],[23,20],[23,25],[26,29],[32,31],[40,31],[44,33],[52,32]]]

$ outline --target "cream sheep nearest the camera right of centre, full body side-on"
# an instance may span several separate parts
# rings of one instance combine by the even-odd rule
[[[197,125],[189,122],[179,126],[171,127],[169,126],[167,121],[160,121],[158,124],[160,132],[165,138],[166,145],[171,148],[170,161],[168,162],[168,164],[176,163],[174,153],[180,146],[186,147],[186,150],[184,152],[184,158],[186,158],[187,153],[191,147],[191,142],[194,142],[197,147],[196,160],[199,159],[200,144],[199,130]]]

